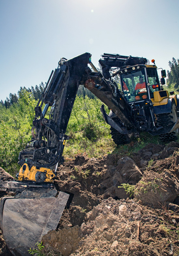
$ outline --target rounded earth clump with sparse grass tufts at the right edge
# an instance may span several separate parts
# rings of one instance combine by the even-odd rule
[[[172,143],[170,143],[172,144]],[[159,155],[168,155],[167,147]],[[154,161],[146,168],[142,179],[136,184],[136,197],[143,203],[157,207],[162,204],[177,203],[179,194],[179,155],[178,148],[172,147],[173,155]]]

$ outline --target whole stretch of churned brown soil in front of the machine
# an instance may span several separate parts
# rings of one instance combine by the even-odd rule
[[[179,255],[179,143],[128,156],[78,155],[59,167],[55,184],[73,199],[42,239],[48,255]],[[0,255],[10,256],[2,235],[0,243]]]

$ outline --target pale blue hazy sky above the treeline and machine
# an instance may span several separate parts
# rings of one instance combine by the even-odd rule
[[[0,0],[0,99],[47,82],[61,57],[179,58],[178,0]],[[160,72],[159,72],[160,74]]]

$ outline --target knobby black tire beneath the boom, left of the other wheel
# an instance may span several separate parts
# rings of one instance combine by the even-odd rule
[[[119,120],[118,117],[113,117],[112,119],[117,124],[121,125],[121,121]],[[114,143],[116,143],[117,145],[128,144],[131,142],[131,139],[126,134],[121,134],[113,127],[111,127],[110,130],[111,130],[112,139],[113,139]]]

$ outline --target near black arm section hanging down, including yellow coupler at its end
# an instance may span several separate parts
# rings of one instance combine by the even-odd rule
[[[51,73],[46,88],[35,107],[32,136],[29,148],[19,155],[19,164],[28,164],[33,170],[32,179],[37,182],[51,182],[56,178],[58,164],[63,163],[63,148],[69,139],[65,135],[70,114],[81,78],[88,67],[89,53],[73,59],[61,59],[58,68]],[[40,104],[41,103],[41,104]],[[45,104],[43,111],[42,107]],[[32,147],[33,145],[33,147]],[[51,174],[50,170],[55,172]],[[20,180],[29,180],[29,170],[21,168]],[[46,171],[46,173],[44,173]]]

